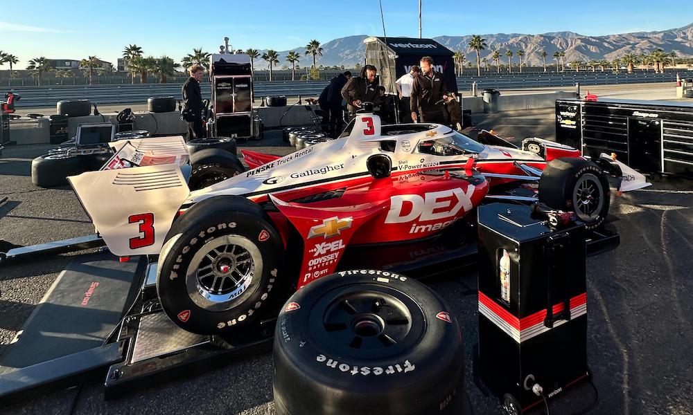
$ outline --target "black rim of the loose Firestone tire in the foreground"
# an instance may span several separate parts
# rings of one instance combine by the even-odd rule
[[[323,326],[342,347],[378,350],[403,342],[412,328],[412,315],[392,295],[357,291],[328,304]]]

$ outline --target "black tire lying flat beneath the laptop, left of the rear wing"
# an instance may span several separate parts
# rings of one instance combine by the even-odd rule
[[[64,186],[67,185],[67,176],[75,176],[88,169],[82,156],[68,155],[67,152],[44,154],[31,161],[31,183],[38,187]]]

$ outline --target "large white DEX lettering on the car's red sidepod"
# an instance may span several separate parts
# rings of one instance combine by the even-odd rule
[[[467,190],[459,187],[440,192],[418,194],[400,194],[390,198],[390,210],[385,223],[406,223],[415,221],[435,221],[455,216],[460,210],[468,212],[473,208],[471,196],[475,187]]]

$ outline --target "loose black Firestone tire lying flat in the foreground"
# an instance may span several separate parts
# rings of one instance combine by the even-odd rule
[[[464,413],[464,348],[448,309],[395,273],[342,271],[310,282],[277,320],[277,414]]]

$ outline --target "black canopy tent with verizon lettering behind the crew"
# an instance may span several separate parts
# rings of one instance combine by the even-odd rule
[[[386,42],[387,39],[387,42]],[[395,81],[418,65],[421,57],[433,58],[434,68],[443,74],[449,92],[457,93],[453,51],[433,39],[413,37],[367,37],[366,64],[378,68],[380,85],[386,93],[396,94]]]

